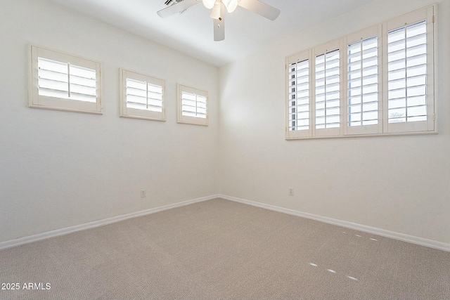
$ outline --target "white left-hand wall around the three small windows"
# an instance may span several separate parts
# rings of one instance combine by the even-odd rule
[[[2,0],[0,41],[0,242],[217,193],[217,67],[45,0]],[[101,61],[103,115],[28,108],[28,43]],[[167,122],[119,117],[119,67],[166,79]],[[176,124],[176,83],[210,126]]]

